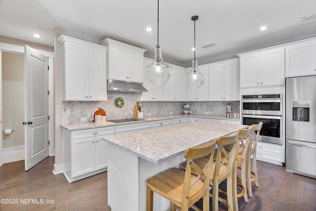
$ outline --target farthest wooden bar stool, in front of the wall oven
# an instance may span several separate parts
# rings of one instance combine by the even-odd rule
[[[252,188],[251,188],[252,181],[255,181],[256,186],[259,187],[258,173],[257,173],[257,144],[259,141],[259,134],[262,128],[262,124],[263,124],[262,122],[259,122],[259,124],[251,125],[252,130],[251,130],[250,140],[248,143],[249,144],[248,153],[246,155],[246,183],[247,183],[247,190],[248,190],[249,196],[252,196]],[[253,171],[251,171],[251,165],[250,165],[251,155],[252,155]]]

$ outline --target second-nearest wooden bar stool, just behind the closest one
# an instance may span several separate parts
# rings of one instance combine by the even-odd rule
[[[237,155],[239,151],[238,134],[232,136],[223,136],[217,139],[217,155],[215,163],[213,164],[213,175],[210,178],[210,187],[212,187],[212,210],[218,211],[218,202],[222,202],[228,206],[228,210],[234,209],[237,204],[237,185],[236,185],[236,169],[237,169]],[[226,150],[225,146],[230,146],[231,150]],[[208,156],[195,159],[194,162],[198,166],[204,166],[208,162]],[[225,165],[225,163],[227,163]],[[185,169],[186,163],[181,164],[181,169]],[[192,172],[196,175],[196,172]],[[219,197],[219,184],[227,179],[227,201]]]

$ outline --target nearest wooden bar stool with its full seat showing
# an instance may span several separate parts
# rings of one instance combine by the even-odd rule
[[[188,148],[185,172],[171,168],[147,180],[147,211],[153,211],[154,192],[171,202],[171,211],[181,208],[188,211],[200,198],[203,198],[203,211],[209,211],[209,180],[212,174],[213,155],[216,140],[204,146]],[[204,166],[198,166],[194,159],[211,154]],[[191,173],[195,171],[197,176]]]

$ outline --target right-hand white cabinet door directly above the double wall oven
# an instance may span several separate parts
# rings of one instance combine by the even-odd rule
[[[260,54],[260,86],[284,85],[284,48]]]

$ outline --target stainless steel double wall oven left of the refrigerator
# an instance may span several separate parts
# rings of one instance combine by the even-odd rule
[[[242,124],[263,122],[259,141],[282,144],[282,94],[242,95]]]

